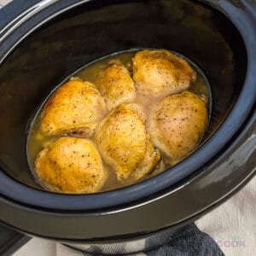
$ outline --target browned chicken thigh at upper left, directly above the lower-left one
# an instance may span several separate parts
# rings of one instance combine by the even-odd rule
[[[106,113],[106,104],[94,84],[71,79],[55,90],[44,107],[41,130],[47,135],[90,137]]]

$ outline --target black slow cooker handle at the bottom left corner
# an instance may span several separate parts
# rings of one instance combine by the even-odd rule
[[[9,256],[24,246],[31,237],[10,229],[0,222],[0,255]]]

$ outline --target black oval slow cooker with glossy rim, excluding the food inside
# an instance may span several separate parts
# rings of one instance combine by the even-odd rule
[[[201,147],[141,183],[61,195],[34,182],[30,121],[49,92],[104,55],[160,48],[201,68],[212,117]],[[168,241],[241,189],[255,172],[256,2],[253,0],[29,0],[0,10],[0,219],[96,253]]]

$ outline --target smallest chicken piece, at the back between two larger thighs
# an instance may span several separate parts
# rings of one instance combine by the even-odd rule
[[[102,95],[107,96],[107,107],[111,110],[121,102],[132,102],[136,96],[133,80],[127,68],[118,63],[110,64],[99,81]]]

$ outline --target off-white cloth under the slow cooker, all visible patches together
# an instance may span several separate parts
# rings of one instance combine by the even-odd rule
[[[10,0],[0,0],[0,8]],[[196,222],[226,256],[256,255],[256,177],[221,207]],[[79,256],[54,241],[33,238],[14,256]]]

